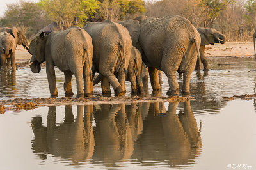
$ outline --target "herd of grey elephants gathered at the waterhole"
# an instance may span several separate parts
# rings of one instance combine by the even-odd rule
[[[125,95],[125,80],[131,82],[132,93],[143,95],[142,72],[145,66],[154,91],[161,89],[161,70],[168,78],[166,95],[179,95],[176,72],[183,73],[182,93],[189,94],[189,81],[195,66],[200,70],[202,61],[204,70],[209,70],[204,56],[205,45],[226,42],[225,35],[215,29],[196,29],[188,19],[177,15],[163,18],[140,16],[118,23],[105,20],[89,22],[82,29],[73,26],[64,31],[41,31],[29,47],[24,33],[14,29],[0,29],[0,68],[9,70],[11,60],[15,71],[14,51],[17,44],[23,45],[32,54],[28,65],[32,72],[39,73],[40,64],[46,61],[51,97],[58,97],[55,66],[64,72],[66,97],[74,95],[72,75],[76,77],[77,97],[92,97],[93,85],[100,81],[102,94],[111,93],[111,84],[115,96]],[[99,75],[93,81],[96,72]]]

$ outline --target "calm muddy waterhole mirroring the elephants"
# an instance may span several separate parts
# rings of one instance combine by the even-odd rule
[[[221,99],[255,93],[254,59],[211,58],[209,68],[208,75],[193,72],[195,100],[187,102],[6,111],[0,169],[256,169],[256,101]],[[56,72],[64,97],[64,76]],[[3,99],[49,97],[45,70],[0,72],[0,80]],[[168,90],[165,75],[163,81],[160,95]],[[76,93],[74,80],[72,87]],[[100,95],[99,85],[95,91]],[[129,82],[127,91],[131,95]]]

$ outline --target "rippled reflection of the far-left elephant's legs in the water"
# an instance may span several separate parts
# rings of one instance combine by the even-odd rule
[[[2,91],[1,88],[4,90]],[[16,97],[16,72],[0,72],[0,97]]]

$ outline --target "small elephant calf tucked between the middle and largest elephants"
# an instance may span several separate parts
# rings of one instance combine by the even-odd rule
[[[136,95],[139,93],[143,95],[143,83],[142,83],[142,59],[138,49],[132,46],[131,57],[127,69],[126,79],[131,82],[132,94]],[[102,80],[102,75],[99,74],[96,79],[93,80],[93,85],[98,84]],[[110,88],[104,87],[104,88]]]

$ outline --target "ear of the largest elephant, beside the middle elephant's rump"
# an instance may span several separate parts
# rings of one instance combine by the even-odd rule
[[[126,27],[132,39],[132,45],[135,47],[139,41],[140,36],[140,23],[138,20],[124,20],[118,22],[119,24]]]

